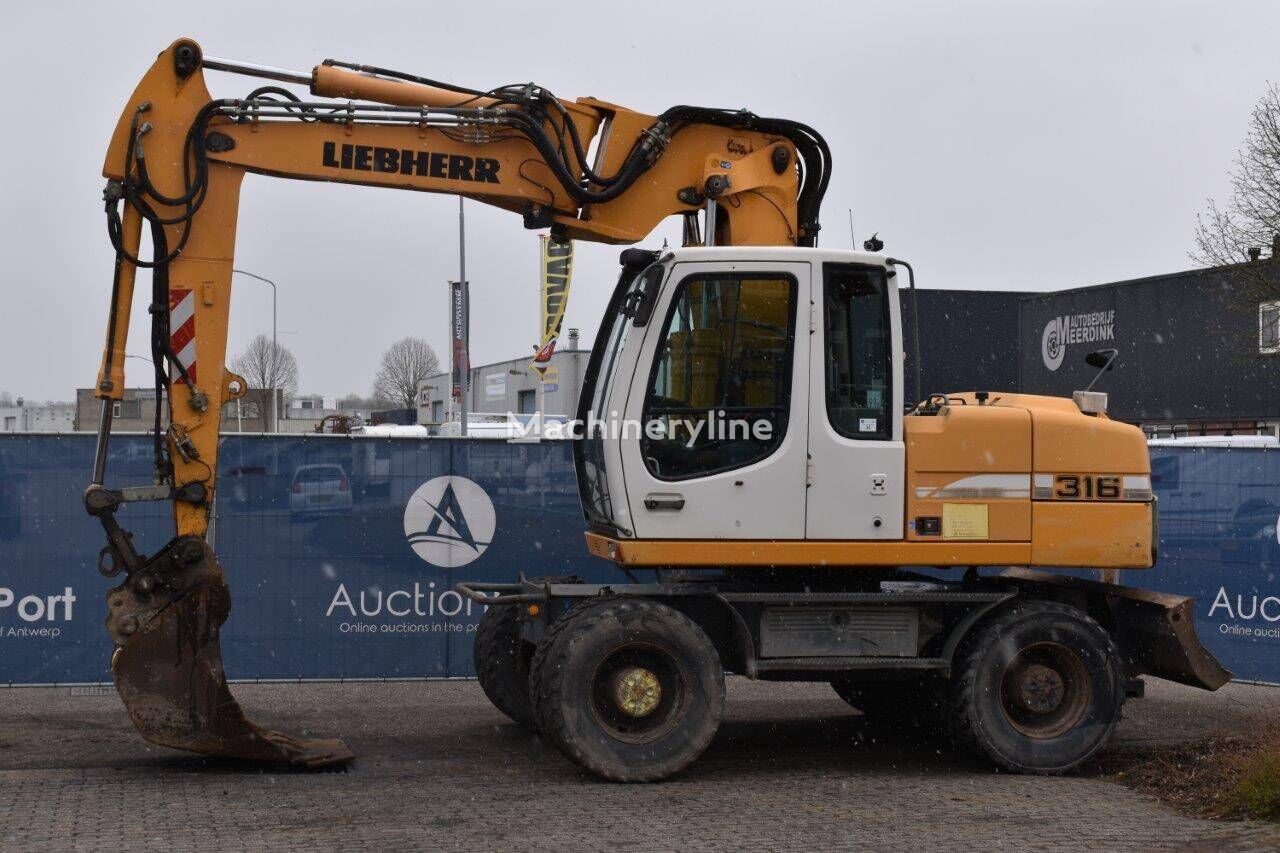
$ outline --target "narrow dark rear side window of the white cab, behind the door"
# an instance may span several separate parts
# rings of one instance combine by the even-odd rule
[[[887,289],[879,266],[826,265],[827,418],[845,438],[892,437]]]

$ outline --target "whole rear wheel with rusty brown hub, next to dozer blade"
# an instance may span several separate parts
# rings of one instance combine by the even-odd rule
[[[1124,704],[1124,665],[1088,613],[1019,601],[956,658],[950,734],[1006,770],[1064,774],[1101,749]]]

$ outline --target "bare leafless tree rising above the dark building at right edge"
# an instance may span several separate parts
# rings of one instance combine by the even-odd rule
[[[1219,205],[1210,200],[1196,218],[1192,259],[1206,266],[1226,266],[1251,260],[1266,250],[1271,260],[1280,245],[1280,86],[1270,83],[1254,105],[1244,145],[1231,169],[1231,196]],[[1238,269],[1247,286],[1244,296],[1266,300],[1280,296],[1280,275],[1270,264]]]

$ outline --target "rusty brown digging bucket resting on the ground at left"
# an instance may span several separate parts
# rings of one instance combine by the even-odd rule
[[[311,768],[355,758],[342,740],[256,726],[232,698],[218,642],[230,592],[202,539],[169,543],[111,589],[108,605],[106,626],[118,646],[111,658],[115,689],[151,743]]]

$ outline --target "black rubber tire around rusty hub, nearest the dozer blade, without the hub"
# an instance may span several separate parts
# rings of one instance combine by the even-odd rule
[[[1052,640],[1080,657],[1089,676],[1080,721],[1037,739],[1001,710],[1000,678],[1018,653]],[[1059,775],[1088,761],[1111,739],[1124,704],[1124,663],[1111,635],[1088,613],[1047,601],[1020,601],[988,620],[963,646],[952,670],[948,734],[965,748],[1021,774]]]

